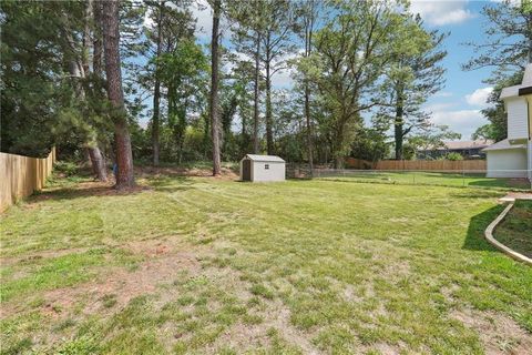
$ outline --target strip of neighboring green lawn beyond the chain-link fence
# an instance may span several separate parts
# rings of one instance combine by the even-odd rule
[[[391,184],[439,185],[439,186],[467,186],[493,190],[522,190],[530,191],[530,182],[525,179],[492,179],[484,173],[464,172],[426,172],[426,171],[369,171],[344,170],[318,172],[318,178],[327,180],[344,180],[356,182],[379,182]]]

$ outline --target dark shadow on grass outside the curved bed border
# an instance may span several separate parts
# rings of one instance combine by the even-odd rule
[[[497,248],[484,239],[484,231],[503,210],[504,205],[501,204],[471,217],[462,248],[471,251],[497,251]]]

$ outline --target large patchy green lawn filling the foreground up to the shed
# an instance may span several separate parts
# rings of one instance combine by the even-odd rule
[[[532,348],[532,268],[482,236],[500,192],[140,182],[59,180],[1,215],[2,354]]]

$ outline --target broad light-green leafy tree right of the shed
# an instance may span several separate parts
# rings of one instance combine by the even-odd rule
[[[330,134],[330,151],[338,164],[357,139],[360,113],[381,103],[375,95],[378,79],[388,71],[402,78],[401,82],[411,80],[411,68],[402,70],[393,60],[420,52],[427,47],[421,40],[430,42],[430,36],[388,2],[366,1],[354,7],[350,1],[335,1],[331,8],[336,16],[316,32],[315,51],[298,68],[319,89],[318,102],[327,118],[323,129]],[[412,30],[419,36],[412,36]]]

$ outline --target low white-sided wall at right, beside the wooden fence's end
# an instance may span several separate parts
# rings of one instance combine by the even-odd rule
[[[526,150],[487,152],[488,178],[526,178]]]

